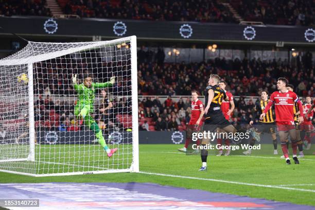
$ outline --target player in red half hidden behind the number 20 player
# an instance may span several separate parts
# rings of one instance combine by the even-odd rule
[[[225,87],[226,87],[226,82],[225,81],[221,80],[219,82],[219,86],[225,92],[226,96],[229,97],[229,101],[225,101],[225,100],[222,101],[222,103],[221,103],[221,111],[222,111],[225,119],[230,121],[231,114],[233,113],[233,110],[235,108],[234,101],[233,101],[233,95],[229,91],[225,90]],[[231,104],[231,109],[230,109],[230,104]],[[218,138],[217,141],[218,141],[217,144],[221,146],[222,145],[222,138]],[[226,146],[230,146],[230,139],[225,139],[225,145]],[[230,153],[231,153],[231,150],[228,149],[228,150],[226,150],[224,155],[228,156],[228,155],[230,155]],[[223,151],[220,148],[219,149],[219,153],[217,154],[217,156],[221,156],[222,154],[223,154]]]

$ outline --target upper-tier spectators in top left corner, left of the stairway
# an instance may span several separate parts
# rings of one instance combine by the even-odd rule
[[[36,15],[51,16],[46,0],[0,0],[0,16]]]

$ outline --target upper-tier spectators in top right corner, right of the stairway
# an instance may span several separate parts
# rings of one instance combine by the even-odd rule
[[[314,1],[234,0],[232,5],[245,21],[277,25],[314,25]]]

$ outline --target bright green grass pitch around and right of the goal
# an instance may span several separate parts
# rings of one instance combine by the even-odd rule
[[[159,174],[109,173],[34,178],[0,172],[0,183],[150,182],[315,206],[315,156],[305,156],[300,159],[300,165],[294,165],[293,161],[293,164],[286,165],[284,159],[279,158],[281,154],[255,156],[253,153],[252,156],[219,157],[210,155],[208,170],[200,172],[200,156],[179,153],[177,148],[180,147],[182,145],[139,145],[140,170]],[[270,148],[272,153],[271,145]],[[60,152],[59,148],[56,149]],[[278,151],[281,153],[281,149]],[[92,154],[81,152],[77,155],[91,161]],[[60,160],[62,157],[58,158],[58,161]],[[108,163],[108,160],[99,155],[89,167],[99,167],[103,163]],[[129,164],[126,162],[126,165]]]

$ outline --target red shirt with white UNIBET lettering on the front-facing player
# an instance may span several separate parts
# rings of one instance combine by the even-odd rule
[[[292,91],[281,93],[275,91],[270,96],[270,101],[274,103],[276,121],[286,122],[294,121],[293,106],[294,101],[297,102],[299,97]]]

